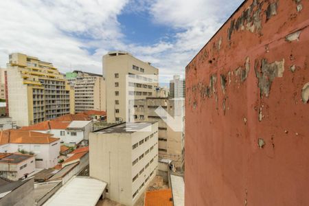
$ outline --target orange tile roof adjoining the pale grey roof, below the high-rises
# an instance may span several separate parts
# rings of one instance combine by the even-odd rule
[[[60,130],[65,129],[69,126],[70,122],[59,122],[59,121],[45,121],[31,126],[23,126],[21,130]]]

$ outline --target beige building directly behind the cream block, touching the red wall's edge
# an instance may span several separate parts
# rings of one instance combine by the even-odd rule
[[[173,119],[178,117],[181,122],[177,124],[184,124],[184,103],[184,100],[170,98],[135,100],[135,109],[131,113],[135,122],[158,122],[159,158],[170,159],[178,170],[183,166],[185,135],[183,130],[176,130],[173,125],[168,125],[166,119],[167,115],[170,115]],[[159,106],[166,111],[162,116],[156,112]]]

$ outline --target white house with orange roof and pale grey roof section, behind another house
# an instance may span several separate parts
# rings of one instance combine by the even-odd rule
[[[89,139],[89,133],[92,131],[92,122],[48,120],[31,126],[23,126],[21,130],[52,134],[54,137],[59,137],[61,143],[67,146],[74,146],[84,139]]]

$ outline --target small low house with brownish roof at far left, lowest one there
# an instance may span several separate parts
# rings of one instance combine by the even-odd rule
[[[0,176],[17,181],[34,172],[34,155],[0,153]]]

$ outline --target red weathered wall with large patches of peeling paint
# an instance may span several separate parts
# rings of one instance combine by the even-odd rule
[[[185,205],[309,205],[309,1],[245,1],[186,68]]]

